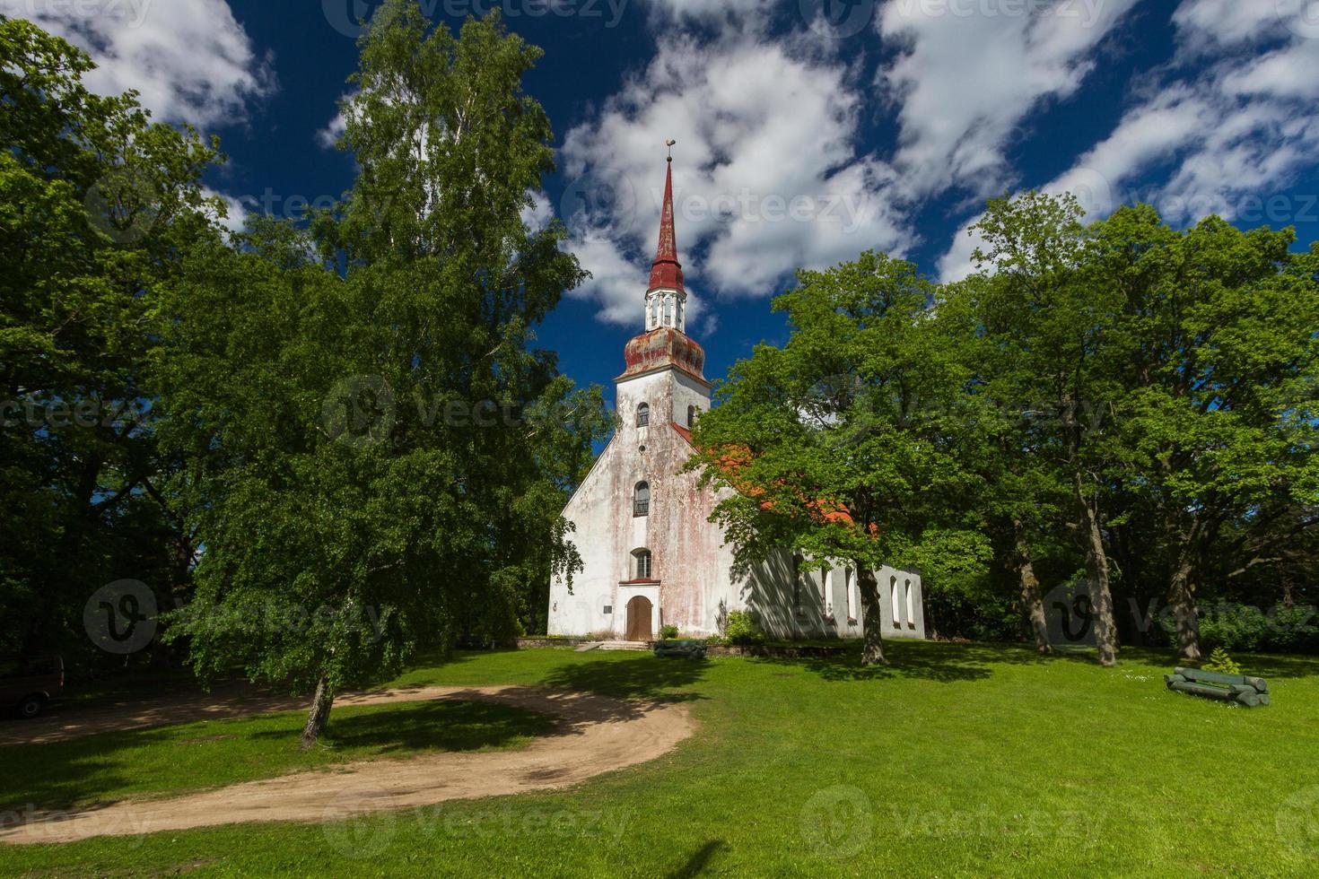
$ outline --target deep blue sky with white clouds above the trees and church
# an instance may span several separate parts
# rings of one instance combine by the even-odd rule
[[[91,84],[220,134],[208,186],[295,213],[352,179],[328,146],[368,0],[0,0],[91,51]],[[456,25],[488,0],[422,0]],[[868,248],[951,279],[984,199],[1074,191],[1178,225],[1220,213],[1319,237],[1319,0],[499,0],[545,50],[526,88],[554,123],[551,213],[595,275],[542,328],[608,383],[641,328],[663,141],[677,138],[689,332],[721,377],[781,341],[797,266]]]

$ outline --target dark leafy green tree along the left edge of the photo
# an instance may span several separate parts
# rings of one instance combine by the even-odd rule
[[[183,588],[154,496],[145,316],[173,254],[214,240],[219,154],[83,86],[88,57],[0,16],[0,613],[5,650],[67,646],[96,588]]]

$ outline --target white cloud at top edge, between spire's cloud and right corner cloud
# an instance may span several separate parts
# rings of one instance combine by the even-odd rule
[[[880,86],[898,105],[893,163],[911,195],[1001,191],[1012,178],[1004,149],[1021,121],[1076,91],[1136,3],[889,0],[878,29],[901,50]]]

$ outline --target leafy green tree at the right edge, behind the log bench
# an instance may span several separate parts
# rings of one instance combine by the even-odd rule
[[[1219,217],[1179,233],[1149,206],[1091,231],[1100,283],[1125,297],[1116,427],[1132,514],[1115,527],[1149,535],[1142,563],[1159,569],[1184,660],[1200,658],[1195,594],[1232,548],[1224,528],[1254,546],[1246,565],[1269,563],[1270,527],[1316,498],[1319,249],[1290,253],[1293,240]]]

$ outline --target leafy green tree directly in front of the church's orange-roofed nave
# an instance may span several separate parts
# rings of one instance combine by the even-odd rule
[[[959,410],[967,324],[911,264],[884,254],[797,281],[774,300],[787,343],[757,345],[732,368],[719,405],[696,422],[689,467],[733,489],[714,521],[739,571],[785,548],[806,568],[855,565],[863,663],[880,663],[874,569],[938,577],[988,551],[955,502],[976,481],[956,451],[973,423]]]

